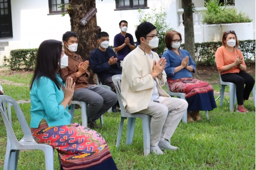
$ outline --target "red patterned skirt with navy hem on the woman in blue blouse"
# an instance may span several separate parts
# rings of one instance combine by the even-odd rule
[[[206,111],[217,107],[214,99],[214,90],[206,82],[193,78],[176,80],[168,78],[168,86],[172,92],[186,93],[185,98],[188,103],[188,111]]]

